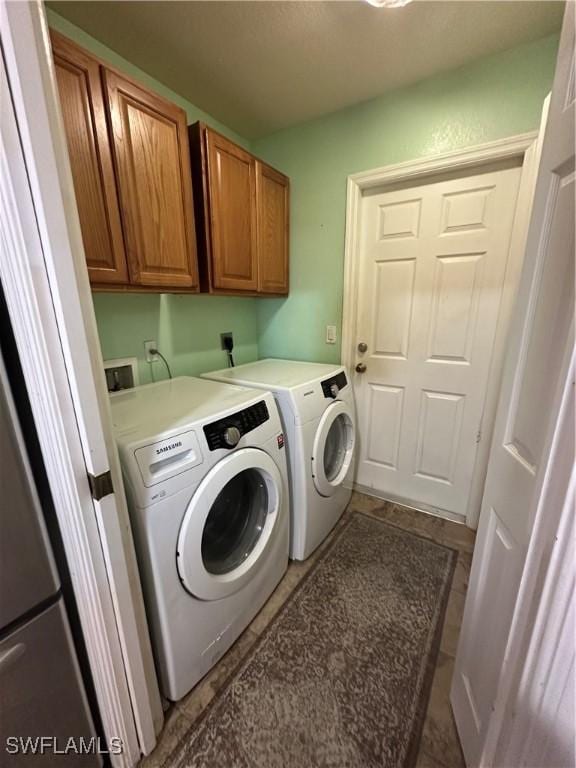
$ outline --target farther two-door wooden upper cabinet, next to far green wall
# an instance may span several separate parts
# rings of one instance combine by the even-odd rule
[[[289,179],[202,123],[189,137],[201,289],[288,293]]]

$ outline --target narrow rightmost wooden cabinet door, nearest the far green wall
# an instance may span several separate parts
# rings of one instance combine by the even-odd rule
[[[258,162],[258,292],[288,293],[290,180]]]

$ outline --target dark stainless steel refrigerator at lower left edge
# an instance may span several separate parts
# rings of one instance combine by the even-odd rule
[[[93,738],[41,499],[0,354],[0,765],[98,766]]]

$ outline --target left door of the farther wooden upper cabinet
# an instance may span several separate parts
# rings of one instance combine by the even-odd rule
[[[256,161],[210,129],[206,131],[210,190],[212,287],[258,288]]]

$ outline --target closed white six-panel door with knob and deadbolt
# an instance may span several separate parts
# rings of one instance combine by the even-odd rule
[[[366,192],[355,377],[357,483],[465,516],[519,163]]]

